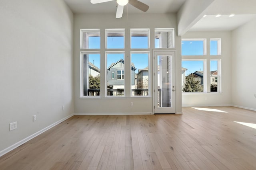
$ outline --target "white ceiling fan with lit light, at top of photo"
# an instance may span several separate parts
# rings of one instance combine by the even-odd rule
[[[91,0],[92,4],[99,4],[102,2],[109,2],[113,0]],[[146,12],[149,8],[148,5],[138,1],[138,0],[116,0],[118,6],[116,10],[116,18],[121,18],[123,15],[124,11],[124,6],[127,5],[128,3],[134,6],[135,8],[138,8],[139,10]]]

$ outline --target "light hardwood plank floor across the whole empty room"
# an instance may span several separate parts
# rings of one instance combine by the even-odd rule
[[[0,170],[256,170],[256,111],[76,115],[0,157]]]

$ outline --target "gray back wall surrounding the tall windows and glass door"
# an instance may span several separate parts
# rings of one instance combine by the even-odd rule
[[[146,21],[146,22],[145,22]],[[105,98],[106,76],[101,77],[102,90],[100,94],[103,98],[80,98],[80,29],[100,28],[100,34],[105,34],[105,28],[125,28],[126,29],[126,49],[129,48],[127,42],[130,41],[130,28],[150,28],[150,35],[154,35],[154,28],[175,28],[175,48],[176,52],[176,82],[181,82],[181,39],[177,37],[176,15],[175,14],[124,14],[120,19],[116,19],[114,14],[75,14],[74,15],[74,101],[76,113],[152,113],[152,95],[145,98]],[[101,47],[104,47],[104,38],[101,39]],[[152,49],[154,39],[150,39],[150,67],[152,68]],[[90,51],[90,50],[88,50]],[[101,53],[101,66],[105,68],[105,53]],[[111,50],[109,50],[111,51]],[[126,52],[126,59],[129,61],[129,51]],[[125,62],[126,77],[130,77],[130,63]],[[152,78],[151,78],[152,84]],[[181,84],[181,83],[178,83]],[[177,87],[180,85],[177,85]],[[125,81],[126,96],[130,96],[130,81]],[[176,109],[181,112],[181,87],[176,89]],[[152,94],[152,88],[151,88]],[[134,102],[130,106],[130,102]],[[98,107],[100,106],[100,107]]]

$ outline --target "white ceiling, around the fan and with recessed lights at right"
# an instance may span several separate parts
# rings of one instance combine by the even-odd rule
[[[115,0],[100,4],[91,4],[90,0],[64,0],[72,12],[77,13],[108,13],[115,14],[117,3]],[[146,14],[176,13],[186,0],[140,0],[149,6]],[[128,4],[124,14],[142,14]],[[216,18],[217,14],[222,16]],[[235,14],[234,17],[229,17]],[[202,14],[207,15],[190,28],[189,31],[229,31],[256,18],[256,0],[214,0]]]

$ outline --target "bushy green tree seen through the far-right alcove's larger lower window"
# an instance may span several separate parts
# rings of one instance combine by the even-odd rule
[[[194,78],[194,74],[189,74],[186,76],[186,83],[182,89],[183,92],[203,92],[204,88],[200,82],[200,80]]]

